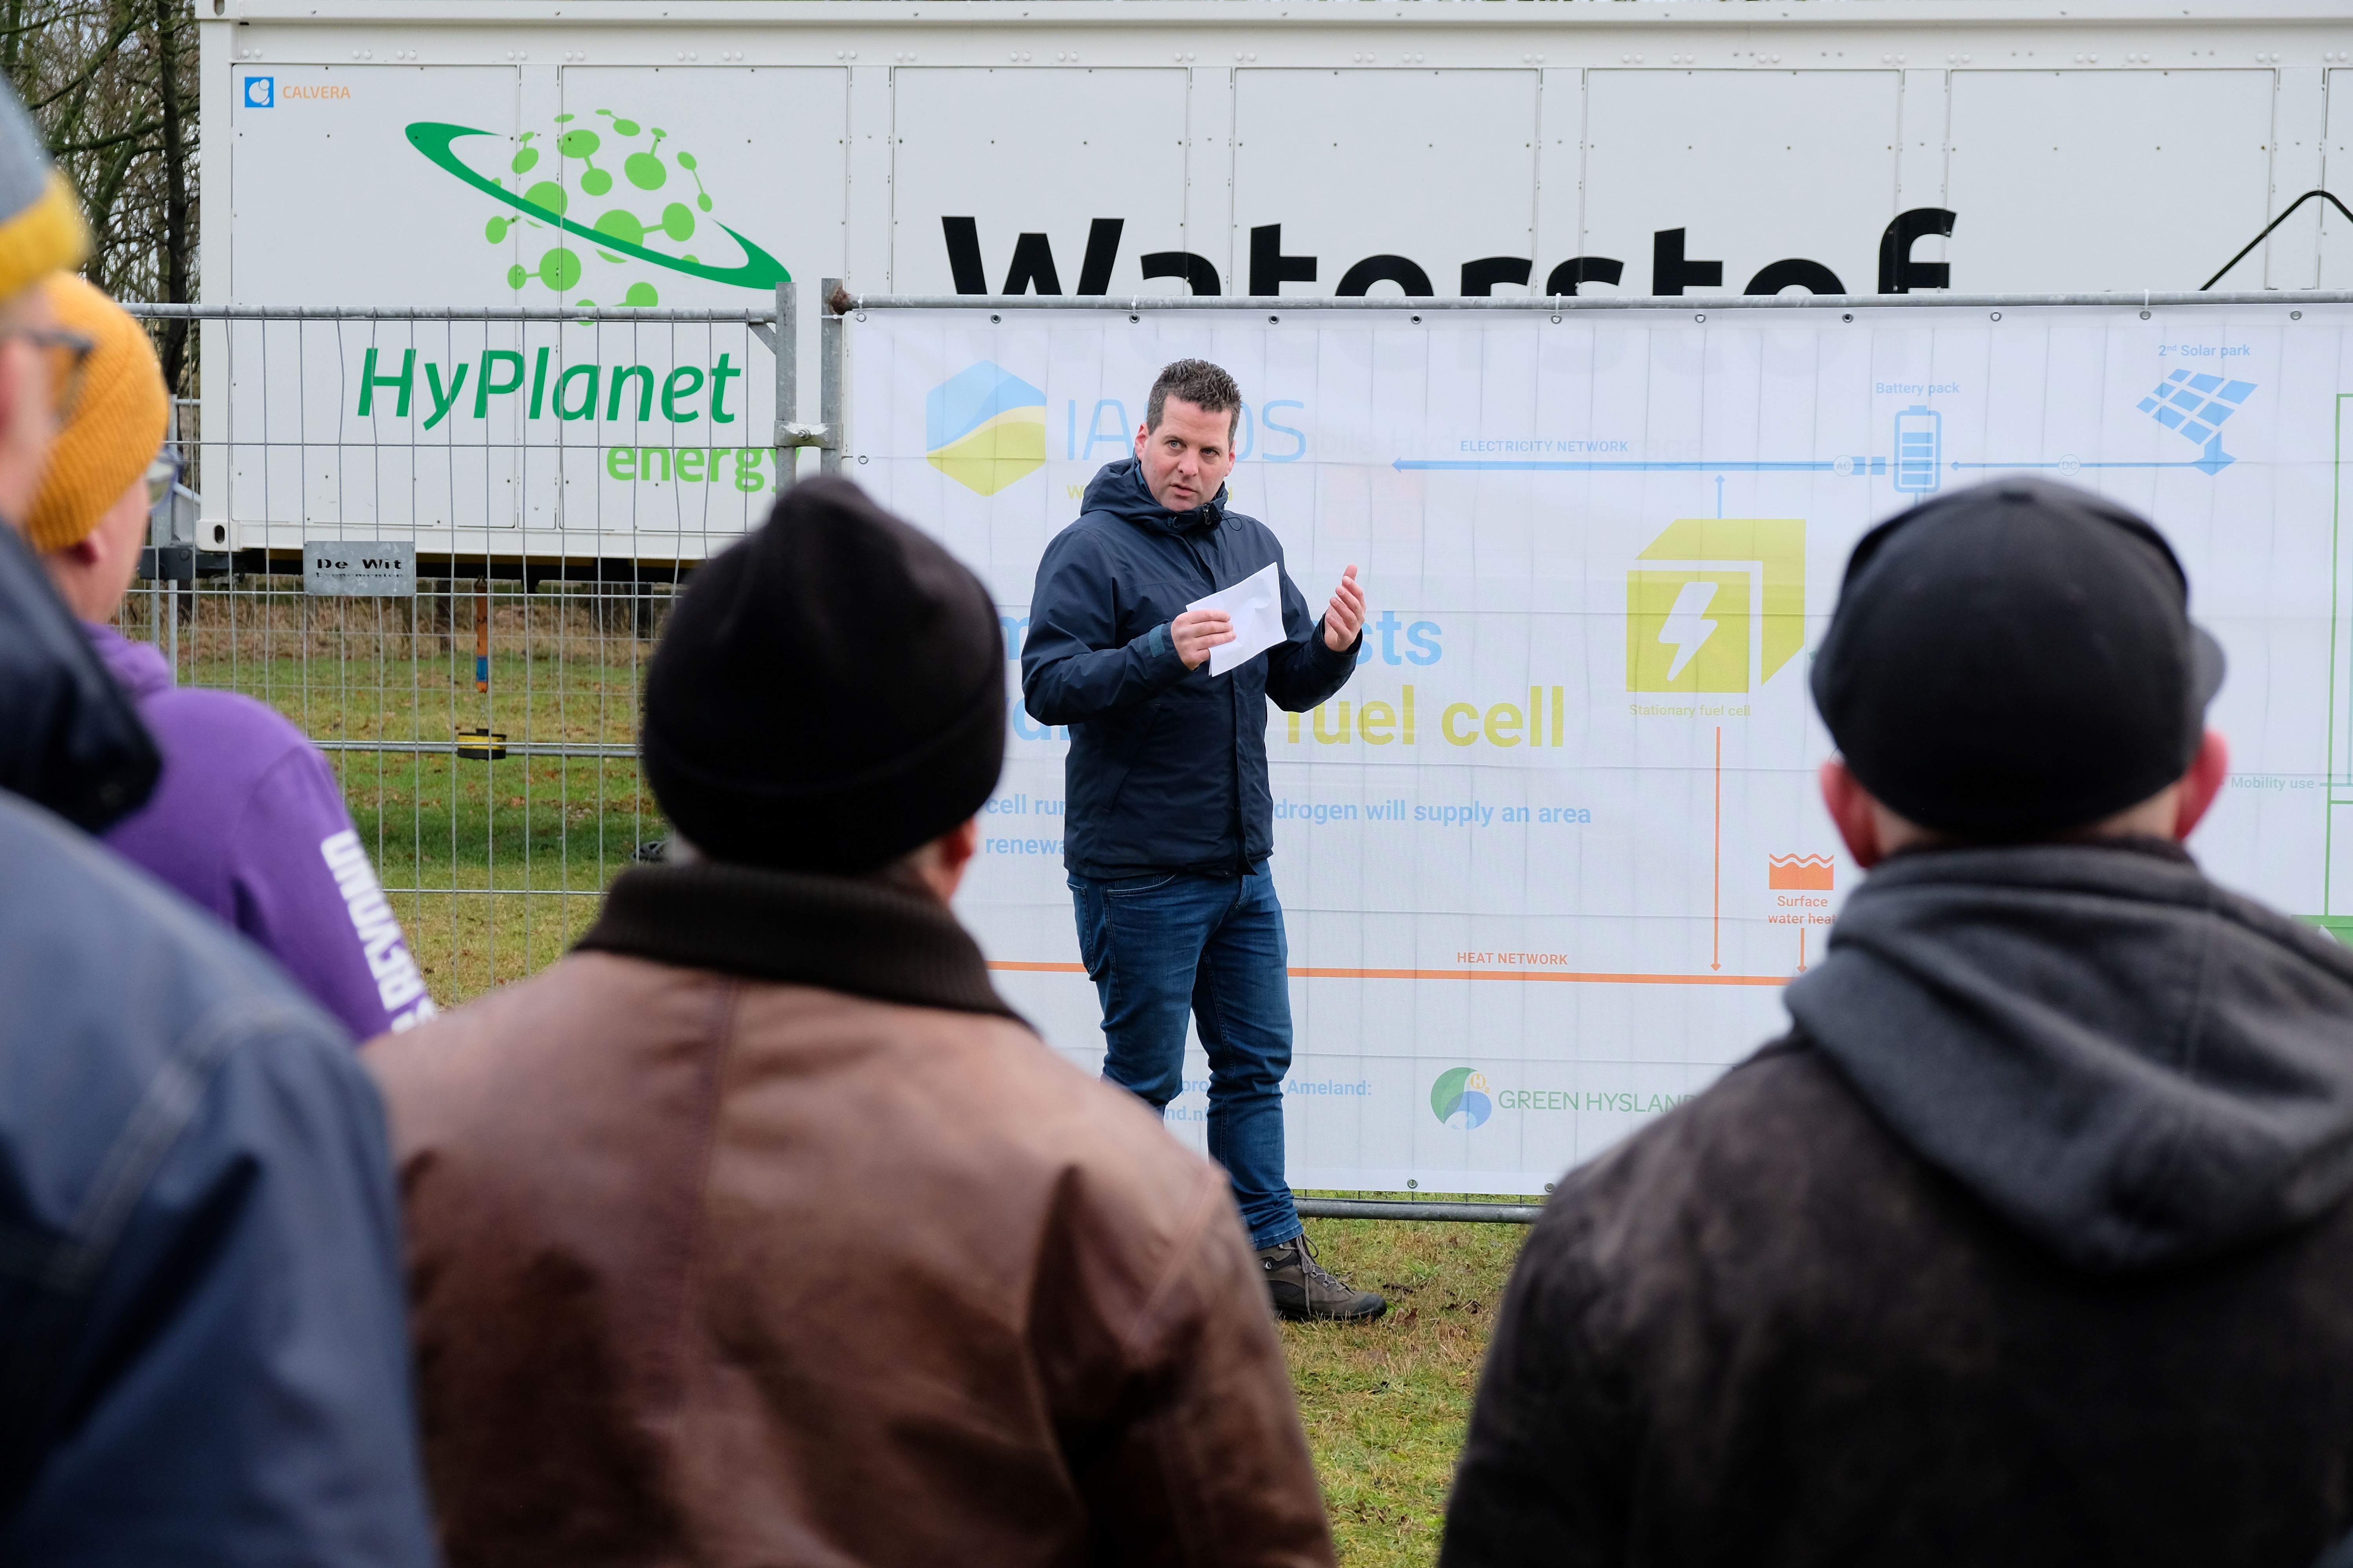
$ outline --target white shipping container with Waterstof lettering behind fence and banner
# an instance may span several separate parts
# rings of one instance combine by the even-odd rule
[[[2325,0],[207,9],[205,301],[235,306],[762,308],[786,275],[866,294],[2195,289],[2353,136],[2353,19]],[[2348,228],[2306,202],[2219,287],[2348,287]],[[720,367],[722,336],[649,329],[633,357],[612,327],[346,324],[301,348],[212,327],[207,364],[235,374],[212,381],[207,440],[247,447],[207,517],[242,548],[296,548],[344,512],[372,536],[409,508],[428,548],[699,557],[758,515],[753,491],[729,501],[734,468],[656,505],[609,454],[769,440],[769,369],[741,331]],[[416,350],[405,423],[393,383],[360,416],[369,346],[376,374]],[[612,360],[586,425],[487,357],[539,346],[555,374]],[[668,388],[687,360],[701,400],[631,418],[614,376],[645,362]],[[421,378],[464,364],[473,390],[438,383],[447,414],[424,428]],[[254,444],[264,381],[275,456]],[[569,390],[579,409],[584,376]],[[435,442],[456,449],[419,456]],[[741,465],[751,482],[758,456]]]

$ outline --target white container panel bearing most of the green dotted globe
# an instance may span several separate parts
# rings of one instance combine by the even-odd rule
[[[529,221],[515,299],[760,310],[793,277],[816,418],[816,287],[847,256],[847,71],[565,66],[558,101],[525,94],[522,136],[534,205],[572,228]],[[534,550],[699,559],[767,512],[776,371],[744,324],[534,322],[529,339]]]

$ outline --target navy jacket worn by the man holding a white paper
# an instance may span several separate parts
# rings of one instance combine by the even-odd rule
[[[1308,618],[1285,569],[1289,642],[1226,675],[1186,670],[1169,621],[1280,564],[1275,531],[1228,510],[1224,489],[1191,512],[1162,508],[1136,458],[1106,463],[1085,508],[1038,562],[1021,646],[1031,717],[1071,726],[1064,865],[1080,877],[1247,872],[1275,846],[1266,698],[1292,712],[1327,701],[1365,637],[1346,654],[1327,649],[1322,618]]]

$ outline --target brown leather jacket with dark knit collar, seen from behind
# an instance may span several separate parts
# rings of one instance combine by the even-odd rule
[[[631,870],[367,1053],[454,1568],[1329,1563],[1224,1175],[939,905]]]

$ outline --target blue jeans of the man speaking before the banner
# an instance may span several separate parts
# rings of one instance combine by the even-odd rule
[[[1104,999],[1104,1077],[1167,1112],[1184,1088],[1184,1020],[1209,1053],[1209,1159],[1226,1166],[1252,1246],[1299,1234],[1282,1180],[1292,1070],[1289,940],[1275,879],[1153,872],[1071,877],[1078,952]]]

